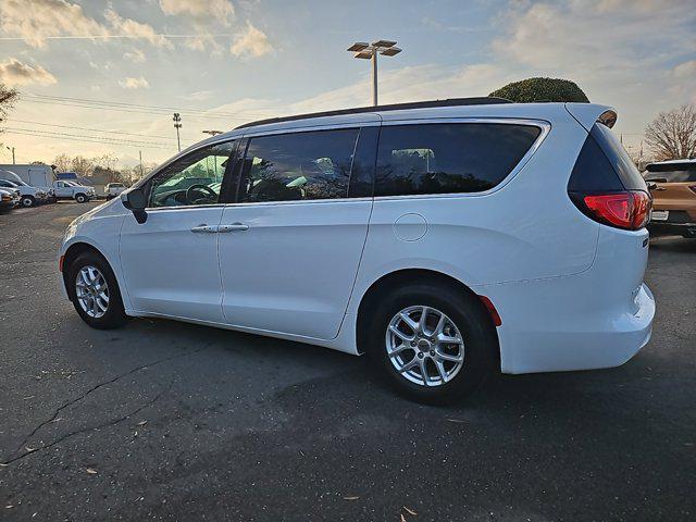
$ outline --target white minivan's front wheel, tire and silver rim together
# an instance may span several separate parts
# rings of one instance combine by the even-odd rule
[[[96,252],[84,252],[67,269],[67,294],[79,316],[97,330],[126,322],[119,283],[109,263]]]

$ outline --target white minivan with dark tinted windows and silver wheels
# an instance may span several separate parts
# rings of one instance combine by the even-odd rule
[[[451,400],[494,370],[616,366],[649,339],[647,187],[589,103],[456,99],[266,120],[75,220],[89,325],[158,316],[369,353]]]

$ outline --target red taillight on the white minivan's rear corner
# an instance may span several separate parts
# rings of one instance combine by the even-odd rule
[[[583,197],[583,202],[597,221],[637,231],[646,225],[652,201],[642,191],[593,194]]]

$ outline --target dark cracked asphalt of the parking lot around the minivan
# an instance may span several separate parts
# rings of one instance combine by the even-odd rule
[[[94,204],[0,215],[0,520],[696,518],[696,240],[652,241],[655,331],[625,365],[435,408],[323,348],[90,330],[55,256]]]

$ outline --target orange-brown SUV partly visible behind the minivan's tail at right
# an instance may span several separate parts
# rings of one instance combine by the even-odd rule
[[[696,159],[650,163],[643,177],[654,184],[650,229],[696,238]]]

